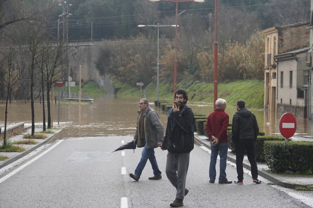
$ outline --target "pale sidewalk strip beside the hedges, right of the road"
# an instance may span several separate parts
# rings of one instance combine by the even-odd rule
[[[197,135],[195,133],[195,141],[199,144],[203,144],[205,147],[211,149],[210,140],[203,135]],[[227,159],[230,162],[236,163],[236,154],[231,152],[228,149]],[[293,175],[293,174],[272,174],[266,172],[269,170],[265,162],[257,162],[258,164],[258,173],[259,176],[286,188],[295,188],[295,187],[305,187],[307,185],[313,186],[313,176],[312,175]],[[244,168],[251,171],[250,163],[248,157],[244,156],[243,162]]]

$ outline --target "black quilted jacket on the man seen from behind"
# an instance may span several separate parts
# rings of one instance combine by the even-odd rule
[[[233,116],[233,143],[240,139],[254,139],[259,133],[258,122],[255,115],[246,108],[241,108]]]

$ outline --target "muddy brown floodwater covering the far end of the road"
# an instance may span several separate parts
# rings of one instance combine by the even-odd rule
[[[134,135],[136,131],[136,119],[138,102],[141,97],[136,96],[114,96],[94,95],[94,102],[78,104],[60,104],[60,122],[58,124],[58,104],[53,105],[54,128],[64,128],[60,133],[61,138],[74,137],[99,137],[113,135]],[[167,115],[158,107],[154,106],[155,98],[147,98],[150,106],[159,113],[160,119],[166,127]],[[168,100],[171,102],[171,100]],[[212,103],[201,103],[188,101],[194,112],[208,115],[213,111]],[[235,103],[227,103],[226,113],[229,115],[230,123],[233,114],[236,112]],[[280,135],[279,119],[281,114],[269,114],[264,109],[249,108],[258,120],[261,131],[266,134]],[[4,128],[5,102],[0,102],[0,127]],[[35,101],[35,125],[42,127],[42,104]],[[47,114],[46,114],[47,118]],[[296,118],[296,135],[304,138],[313,138],[312,120]],[[31,125],[30,102],[14,101],[8,104],[8,125],[18,122],[25,122],[26,126]],[[312,140],[313,141],[313,140]]]

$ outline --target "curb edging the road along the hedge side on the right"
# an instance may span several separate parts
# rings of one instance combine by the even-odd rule
[[[203,140],[198,138],[197,136],[195,136],[195,142],[205,146],[208,149],[211,149],[211,145],[209,145],[208,143],[203,142]],[[227,155],[227,159],[230,162],[236,163],[236,158],[235,157],[231,157],[231,156]],[[243,162],[243,167],[248,169],[249,171],[251,171],[250,164],[247,164],[247,163]],[[263,171],[262,169],[259,169],[259,168],[258,168],[258,174],[259,174],[259,176],[265,178],[266,180],[269,180],[272,183],[274,183],[276,185],[279,185],[279,186],[282,186],[282,187],[285,187],[285,188],[296,188],[296,187],[306,187],[307,186],[307,184],[291,183],[291,182],[279,179],[279,178],[275,177],[274,174],[268,173],[268,172]]]

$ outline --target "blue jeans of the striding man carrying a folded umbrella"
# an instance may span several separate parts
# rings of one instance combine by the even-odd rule
[[[144,140],[144,148],[141,152],[141,159],[140,162],[138,163],[136,170],[135,170],[135,175],[140,178],[142,170],[145,168],[146,163],[149,159],[152,169],[153,169],[153,175],[159,176],[161,175],[161,171],[159,170],[159,167],[157,166],[156,163],[156,157],[154,156],[154,149],[148,149],[146,147],[146,141]]]

